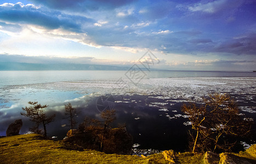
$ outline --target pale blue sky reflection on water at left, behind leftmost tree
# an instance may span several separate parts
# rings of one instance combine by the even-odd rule
[[[64,106],[65,101],[72,101],[81,94],[75,91],[59,91],[59,90],[44,90],[44,89],[11,89],[1,93],[0,99],[0,136],[5,136],[5,131],[10,123],[16,119],[26,120],[20,115],[22,107],[28,106],[29,101],[38,101],[41,104],[48,104],[47,110],[59,111],[60,107]],[[31,122],[27,122],[31,126]],[[21,133],[28,131],[28,126],[24,124]]]

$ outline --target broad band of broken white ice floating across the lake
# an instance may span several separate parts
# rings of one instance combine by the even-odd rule
[[[208,96],[209,93],[218,92],[237,95],[238,101],[248,103],[248,106],[241,107],[243,112],[256,113],[256,78],[153,78],[141,79],[136,85],[130,79],[123,79],[123,81],[124,83],[118,82],[118,79],[97,79],[12,85],[0,88],[0,101],[4,102],[8,99],[15,102],[16,97],[22,97],[21,94],[28,90],[31,94],[52,90],[52,93],[54,91],[76,91],[86,96],[145,95],[149,98],[164,100],[165,102],[147,104],[150,107],[159,107],[168,103],[173,106],[177,102],[202,102],[202,97]],[[121,102],[135,101],[129,98],[116,101],[116,103]],[[253,105],[249,106],[249,104]]]

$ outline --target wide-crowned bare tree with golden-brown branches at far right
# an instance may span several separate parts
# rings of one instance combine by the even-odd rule
[[[230,151],[238,137],[249,133],[252,120],[244,118],[235,101],[225,94],[209,95],[203,101],[201,107],[195,104],[181,107],[196,131],[192,152],[195,153],[196,148],[201,151]]]

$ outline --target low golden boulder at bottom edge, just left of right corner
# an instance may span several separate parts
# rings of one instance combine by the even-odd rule
[[[234,154],[221,153],[219,164],[252,164],[252,163]]]

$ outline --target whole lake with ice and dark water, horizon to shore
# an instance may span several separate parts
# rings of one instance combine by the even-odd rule
[[[184,151],[190,126],[181,104],[228,93],[241,113],[255,120],[255,86],[253,72],[0,71],[0,136],[16,119],[23,121],[20,133],[27,133],[33,123],[20,115],[21,108],[38,101],[48,104],[48,114],[56,114],[48,136],[62,139],[69,130],[64,104],[70,102],[79,123],[85,116],[99,118],[101,111],[116,109],[113,125],[126,124],[137,148]]]

